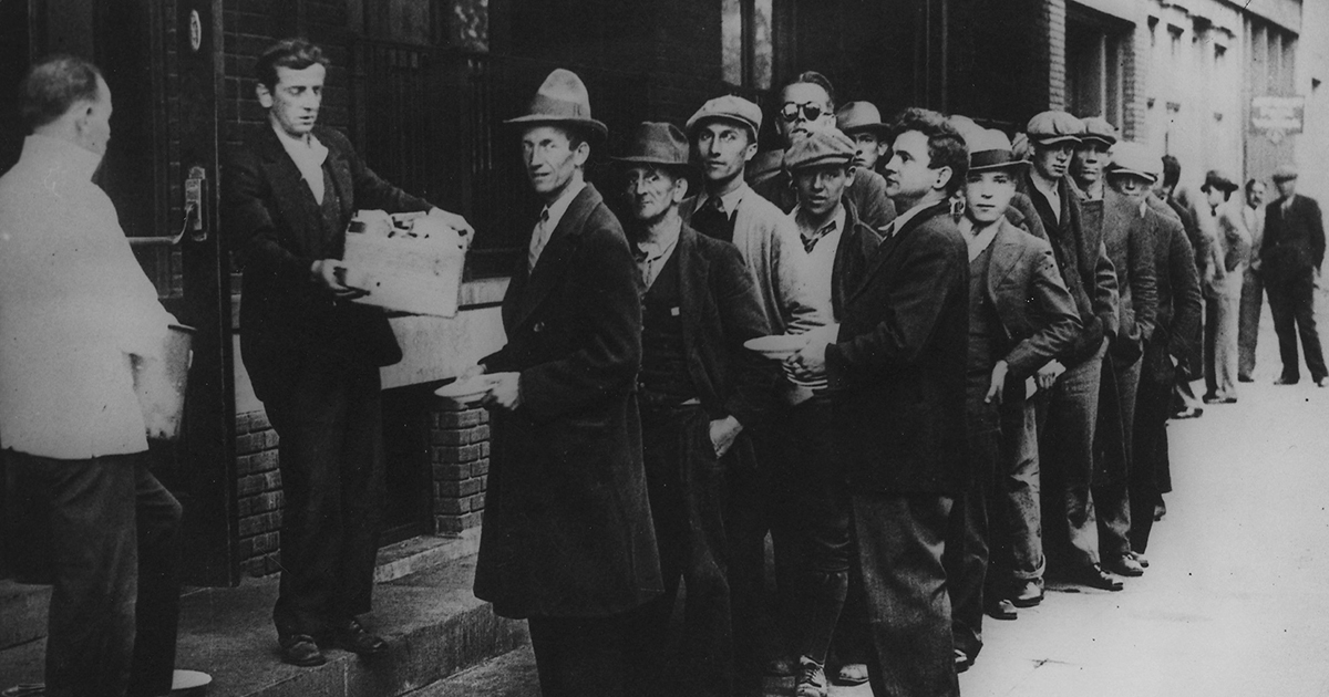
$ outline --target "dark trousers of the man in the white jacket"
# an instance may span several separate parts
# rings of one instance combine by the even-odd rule
[[[179,619],[179,503],[146,453],[52,459],[7,450],[20,580],[51,583],[47,694],[170,692]]]

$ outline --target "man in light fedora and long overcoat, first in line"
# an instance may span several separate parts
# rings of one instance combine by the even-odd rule
[[[528,620],[542,694],[625,694],[627,617],[661,592],[635,394],[641,277],[585,181],[609,129],[581,78],[554,70],[506,123],[544,206],[504,296],[508,344],[478,366],[493,435],[474,591]]]

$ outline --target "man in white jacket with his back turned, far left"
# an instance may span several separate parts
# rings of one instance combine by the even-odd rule
[[[11,564],[49,583],[45,692],[171,689],[181,507],[149,471],[132,364],[174,323],[106,193],[110,86],[72,56],[20,88],[32,134],[0,177],[0,443]]]

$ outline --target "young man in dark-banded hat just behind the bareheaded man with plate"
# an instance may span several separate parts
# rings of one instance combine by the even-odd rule
[[[942,556],[957,670],[982,649],[985,605],[1014,619],[1010,592],[1042,574],[1038,459],[1014,457],[1018,438],[1035,437],[1026,429],[1033,418],[1026,418],[1025,382],[1061,357],[1079,328],[1051,246],[1006,218],[1029,162],[1015,159],[998,130],[971,130],[965,141],[971,150],[958,226],[969,248],[965,438],[971,479],[950,511]],[[989,572],[991,558],[999,575]]]

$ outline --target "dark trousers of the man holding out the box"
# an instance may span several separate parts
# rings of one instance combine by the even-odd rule
[[[369,611],[383,516],[377,368],[304,365],[263,406],[280,437],[279,635],[318,637]]]

